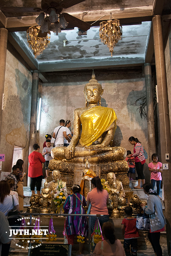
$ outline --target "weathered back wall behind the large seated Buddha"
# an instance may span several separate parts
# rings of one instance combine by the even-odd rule
[[[101,105],[113,108],[118,121],[117,129],[113,139],[113,146],[121,146],[133,152],[133,146],[128,142],[130,136],[137,137],[148,153],[147,121],[141,119],[139,106],[135,101],[145,94],[145,78],[141,71],[129,71],[122,69],[119,72],[109,73],[103,70],[95,70],[96,79],[104,93]],[[42,109],[40,120],[40,152],[43,150],[43,142],[46,133],[53,134],[55,127],[59,125],[60,119],[71,120],[73,129],[73,111],[75,108],[85,106],[83,94],[84,85],[91,78],[88,74],[49,75],[48,82],[42,87]],[[148,171],[148,159],[144,166],[147,181],[150,179]]]

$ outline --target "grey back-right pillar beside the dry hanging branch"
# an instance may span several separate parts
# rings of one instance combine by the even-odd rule
[[[148,149],[149,159],[156,153],[155,128],[154,128],[154,105],[152,93],[152,68],[150,63],[144,64],[145,88],[147,101],[147,125],[148,125]]]

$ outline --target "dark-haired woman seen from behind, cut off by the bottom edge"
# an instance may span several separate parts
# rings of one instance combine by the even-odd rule
[[[103,256],[125,256],[123,246],[119,239],[114,235],[114,225],[111,222],[105,222],[102,227],[104,236],[103,249],[102,242],[98,242],[95,247],[94,254]]]

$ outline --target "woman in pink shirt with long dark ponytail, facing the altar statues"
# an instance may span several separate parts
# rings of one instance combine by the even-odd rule
[[[101,180],[98,176],[91,180],[93,189],[87,195],[87,207],[91,203],[90,214],[102,214],[103,216],[98,217],[100,226],[104,222],[109,220],[109,213],[107,209],[107,204],[109,203],[109,194],[107,190],[103,189]],[[95,222],[97,217],[91,217],[91,233],[93,233]]]

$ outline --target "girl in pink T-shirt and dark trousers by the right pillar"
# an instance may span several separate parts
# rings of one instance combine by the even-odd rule
[[[162,169],[162,163],[159,162],[159,156],[157,154],[152,154],[152,162],[148,164],[149,171],[151,172],[151,184],[152,189],[154,189],[155,183],[157,186],[157,195],[160,194],[160,186],[161,186],[161,173],[163,171]],[[161,197],[159,196],[161,199]]]

